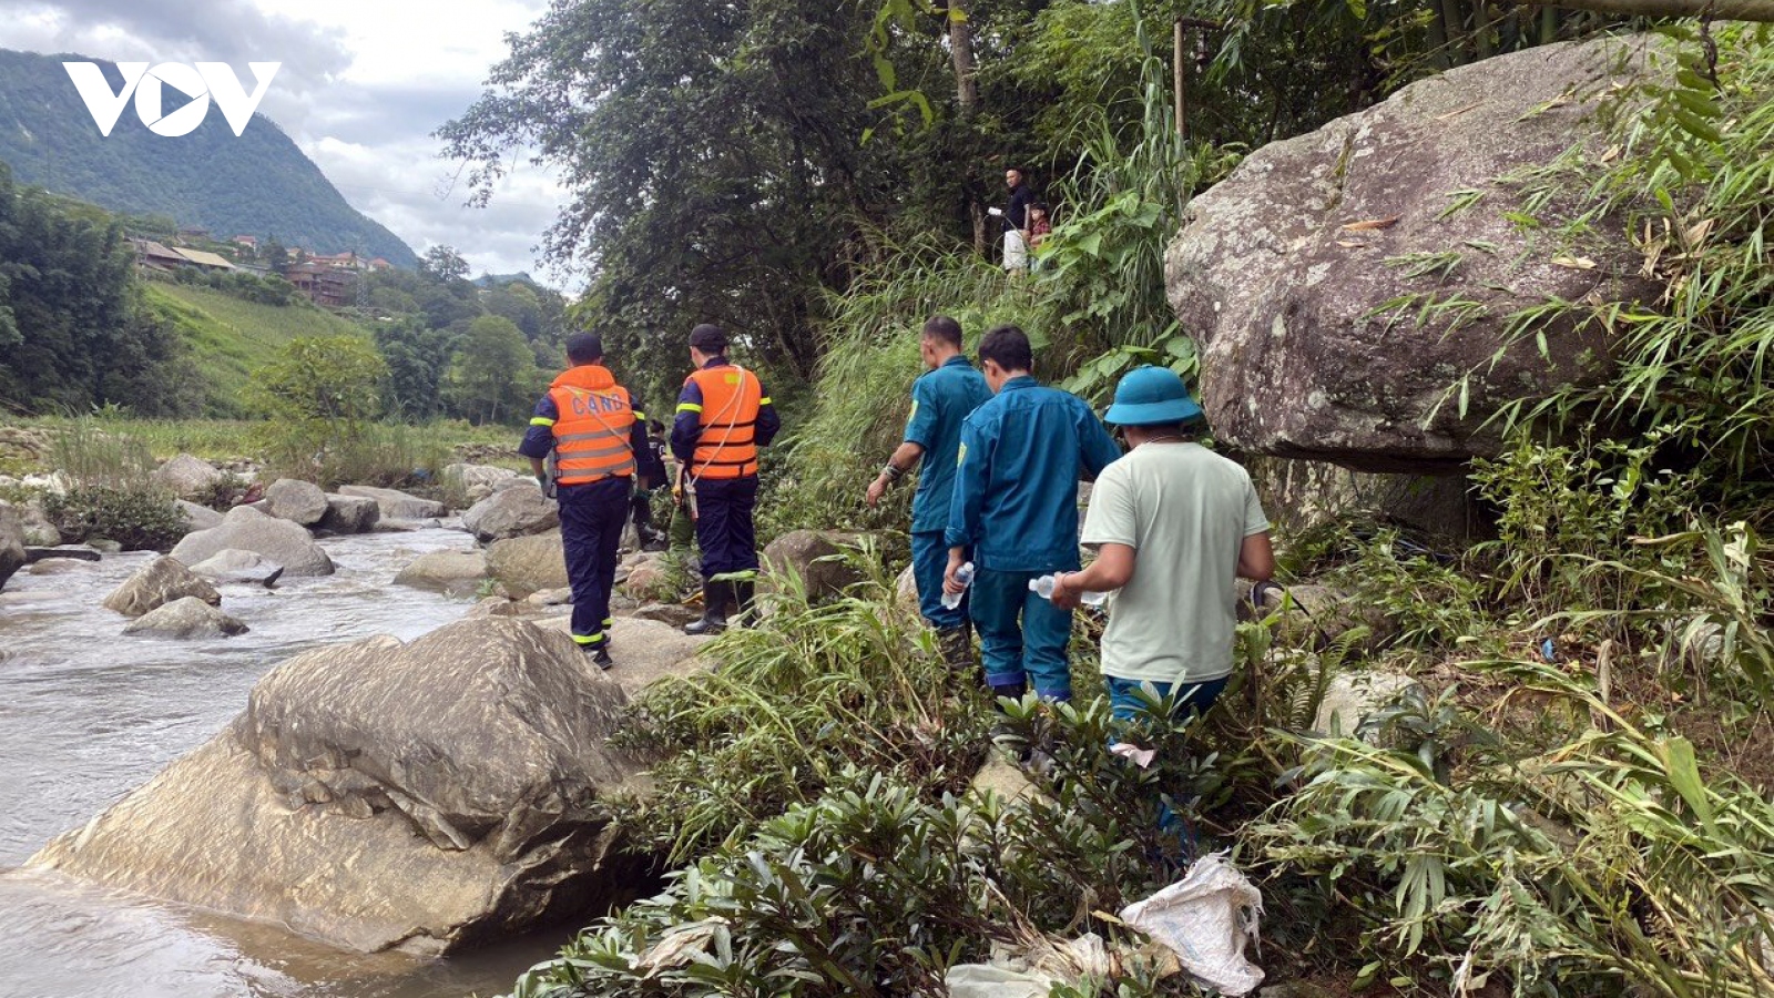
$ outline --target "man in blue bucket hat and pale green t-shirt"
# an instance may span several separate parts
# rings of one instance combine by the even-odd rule
[[[1178,709],[1206,710],[1231,675],[1236,575],[1276,570],[1268,519],[1251,476],[1189,439],[1201,407],[1167,368],[1139,368],[1116,385],[1105,416],[1132,448],[1091,490],[1084,543],[1096,561],[1054,581],[1054,602],[1118,590],[1103,630],[1102,669],[1118,717],[1134,691],[1176,689]]]

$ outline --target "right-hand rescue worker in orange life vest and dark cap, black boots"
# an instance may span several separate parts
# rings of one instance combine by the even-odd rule
[[[718,325],[690,330],[690,362],[695,371],[683,380],[671,428],[703,549],[703,620],[685,632],[713,634],[727,627],[727,607],[752,606],[750,582],[713,579],[757,570],[757,448],[770,446],[782,419],[757,375],[727,360],[727,334]]]

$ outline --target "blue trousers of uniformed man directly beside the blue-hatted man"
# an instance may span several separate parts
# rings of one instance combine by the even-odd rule
[[[979,568],[969,602],[986,685],[1029,682],[1047,700],[1071,700],[1071,611],[1029,591],[1029,579],[1045,572],[992,572]]]

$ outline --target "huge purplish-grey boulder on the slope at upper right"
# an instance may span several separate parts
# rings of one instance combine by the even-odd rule
[[[1451,471],[1495,453],[1485,421],[1503,403],[1604,378],[1600,323],[1540,330],[1542,359],[1533,336],[1504,348],[1508,318],[1549,298],[1655,293],[1643,261],[1618,229],[1604,238],[1605,218],[1584,245],[1554,233],[1582,183],[1554,190],[1533,227],[1504,217],[1524,195],[1499,178],[1600,137],[1595,98],[1643,64],[1623,48],[1550,44],[1451,69],[1265,146],[1196,197],[1166,275],[1205,345],[1215,439],[1361,471]]]

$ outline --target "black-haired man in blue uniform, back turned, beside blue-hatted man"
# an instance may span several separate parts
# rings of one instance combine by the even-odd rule
[[[1034,352],[1020,329],[988,332],[979,362],[997,394],[962,424],[944,588],[962,591],[956,572],[970,547],[970,614],[992,693],[1017,698],[1032,680],[1041,698],[1070,700],[1071,611],[1029,591],[1029,581],[1079,570],[1077,483],[1121,448],[1082,400],[1029,375]]]

